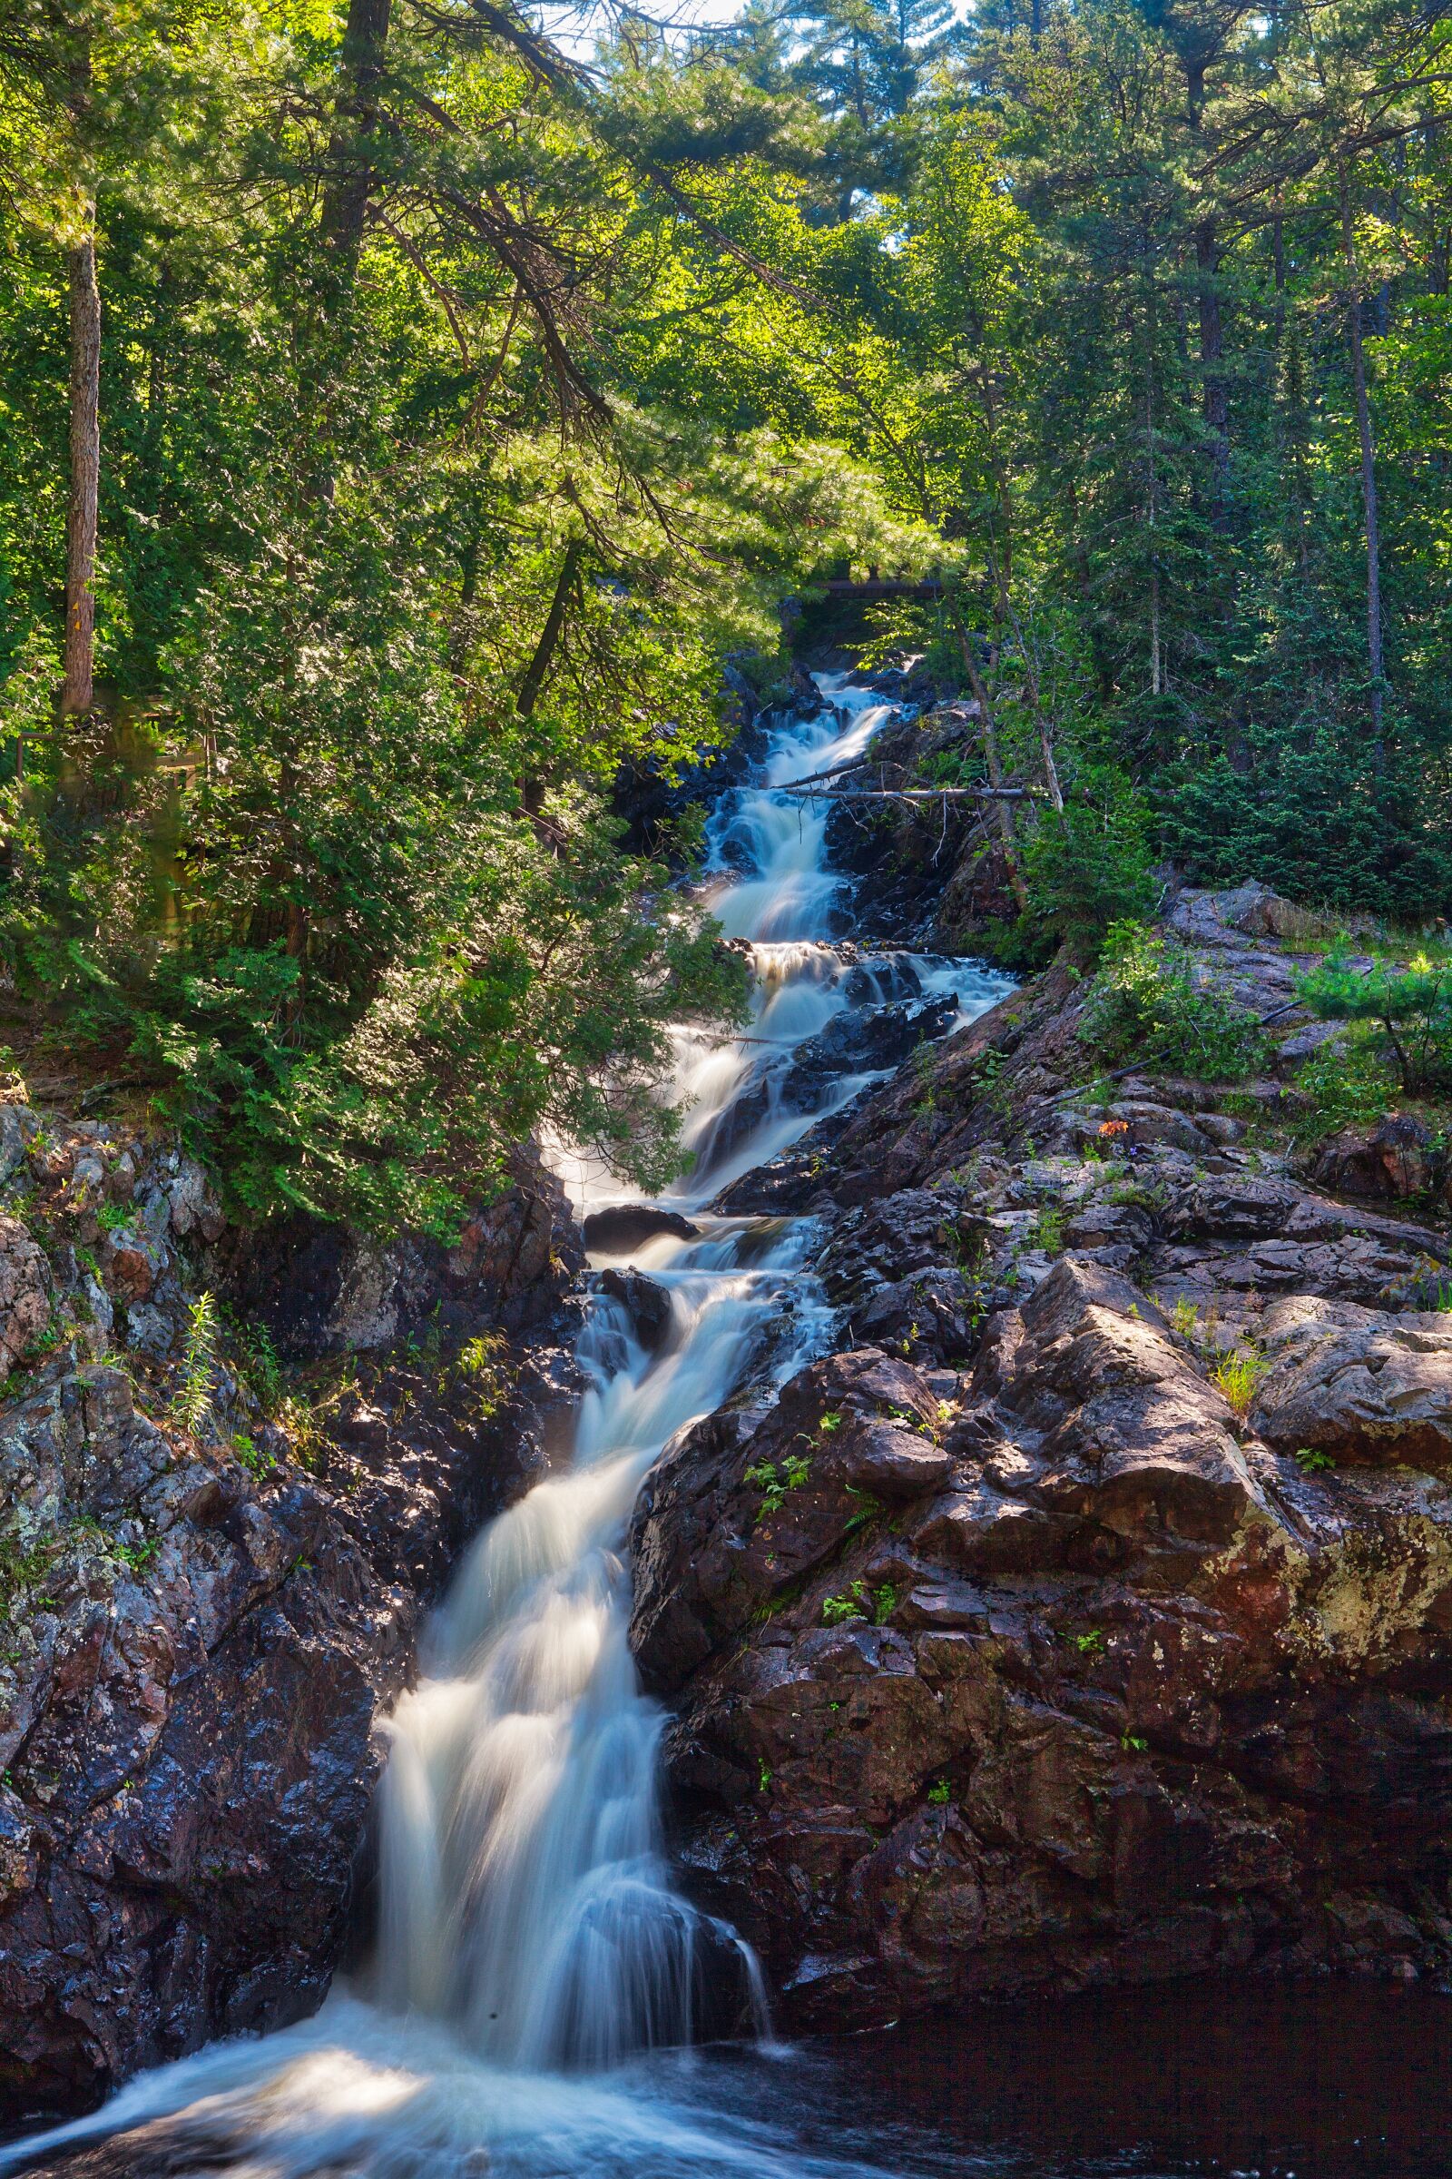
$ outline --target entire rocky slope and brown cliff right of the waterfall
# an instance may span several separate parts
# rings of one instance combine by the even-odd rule
[[[1171,922],[1206,983],[1293,996],[1284,904]],[[638,1508],[681,1859],[792,2026],[1452,1974],[1426,1137],[1311,1174],[1304,1015],[1234,1094],[1091,1090],[1082,1007],[1045,974],[747,1183],[823,1218],[840,1351],[697,1425]]]

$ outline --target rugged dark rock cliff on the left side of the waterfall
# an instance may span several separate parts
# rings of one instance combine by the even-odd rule
[[[259,1249],[174,1146],[59,1113],[0,1107],[0,2090],[20,2114],[320,2000],[377,1719],[459,1543],[542,1458],[579,1253],[529,1159],[451,1253]],[[233,1303],[211,1360],[202,1290]],[[350,1360],[283,1397],[274,1347]]]

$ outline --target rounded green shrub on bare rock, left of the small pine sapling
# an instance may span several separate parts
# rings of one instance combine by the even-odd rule
[[[1115,924],[1084,1005],[1080,1035],[1106,1059],[1239,1081],[1265,1063],[1258,1022],[1195,981],[1191,954],[1143,924]]]

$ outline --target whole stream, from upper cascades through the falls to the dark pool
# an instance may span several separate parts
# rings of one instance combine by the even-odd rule
[[[886,706],[823,686],[832,708],[779,721],[760,778],[723,793],[707,826],[710,900],[749,946],[755,1018],[742,1039],[686,1028],[677,1039],[694,1166],[666,1205],[697,1233],[594,1259],[666,1290],[666,1334],[647,1351],[625,1303],[592,1294],[573,1456],[481,1532],[433,1617],[420,1682],[390,1721],[368,1974],[294,2029],[141,2074],[98,2114],[0,2151],[0,2170],[120,2133],[128,2146],[107,2170],[248,2179],[1445,2170],[1417,2162],[1419,2120],[1428,2155],[1445,2120],[1445,2066],[1432,2081],[1422,2070],[1415,2140],[1400,2140],[1395,2162],[1378,2162],[1389,2135],[1361,2105],[1339,2114],[1341,2131],[1321,2127],[1317,2146],[1297,2083],[1334,2044],[1339,1998],[1330,2011],[1321,2000],[1328,2026],[1302,2072],[1280,2066],[1239,2133],[1217,2131],[1171,2096],[1178,2064],[1197,2079],[1184,2046],[1195,2007],[1204,2046],[1219,2048],[1213,1992],[1191,2005],[1169,1994],[975,2011],[788,2050],[771,2037],[749,1948],[673,1887],[657,1802],[664,1719],[627,1645],[629,1512],[681,1427],[747,1375],[786,1379],[834,1331],[810,1270],[812,1218],[705,1205],[886,1072],[886,1031],[910,1035],[914,1015],[938,1028],[971,1020],[1006,987],[975,963],[845,941],[825,811],[779,789],[849,763]],[[581,1207],[610,1201],[596,1177],[570,1179]],[[721,1992],[745,2033],[692,2048]],[[1239,2024],[1256,2003],[1269,2000],[1228,2000],[1226,2018]],[[1391,2003],[1378,1996],[1374,2024],[1358,2020],[1348,2064],[1352,2046],[1376,2046]],[[1284,2026],[1276,2033],[1289,2048]],[[1391,2031],[1385,2044],[1402,2048]]]

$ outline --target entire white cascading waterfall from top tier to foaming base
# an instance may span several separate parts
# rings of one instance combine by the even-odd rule
[[[825,817],[775,789],[849,763],[886,706],[823,684],[838,708],[786,719],[764,780],[725,795],[710,826],[710,898],[723,928],[751,941],[755,1022],[738,1044],[681,1033],[697,1170],[673,1205],[697,1209],[810,1124],[814,1111],[773,1094],[771,1070],[847,1007],[951,991],[977,1013],[1004,989],[969,963],[834,950],[842,885]],[[836,1081],[832,1100],[862,1079]],[[734,1109],[747,1120],[731,1131]],[[742,2122],[701,2122],[640,2072],[629,2094],[599,2079],[631,2053],[688,2042],[703,1952],[731,1957],[734,1941],[673,1889],[662,1852],[662,1715],[627,1645],[629,1510],[660,1449],[721,1405],[764,1347],[784,1377],[832,1323],[805,1270],[810,1220],[699,1225],[697,1240],[657,1238],[633,1255],[670,1294],[655,1355],[618,1301],[594,1297],[573,1462],[477,1538],[424,1676],[392,1717],[368,1998],[337,1989],[298,2029],[146,2074],[48,2144],[176,2114],[183,2138],[226,2144],[259,2179],[433,2179],[477,2172],[481,2157],[631,2179],[860,2170],[786,2157]],[[35,2148],[0,2153],[0,2170]]]

